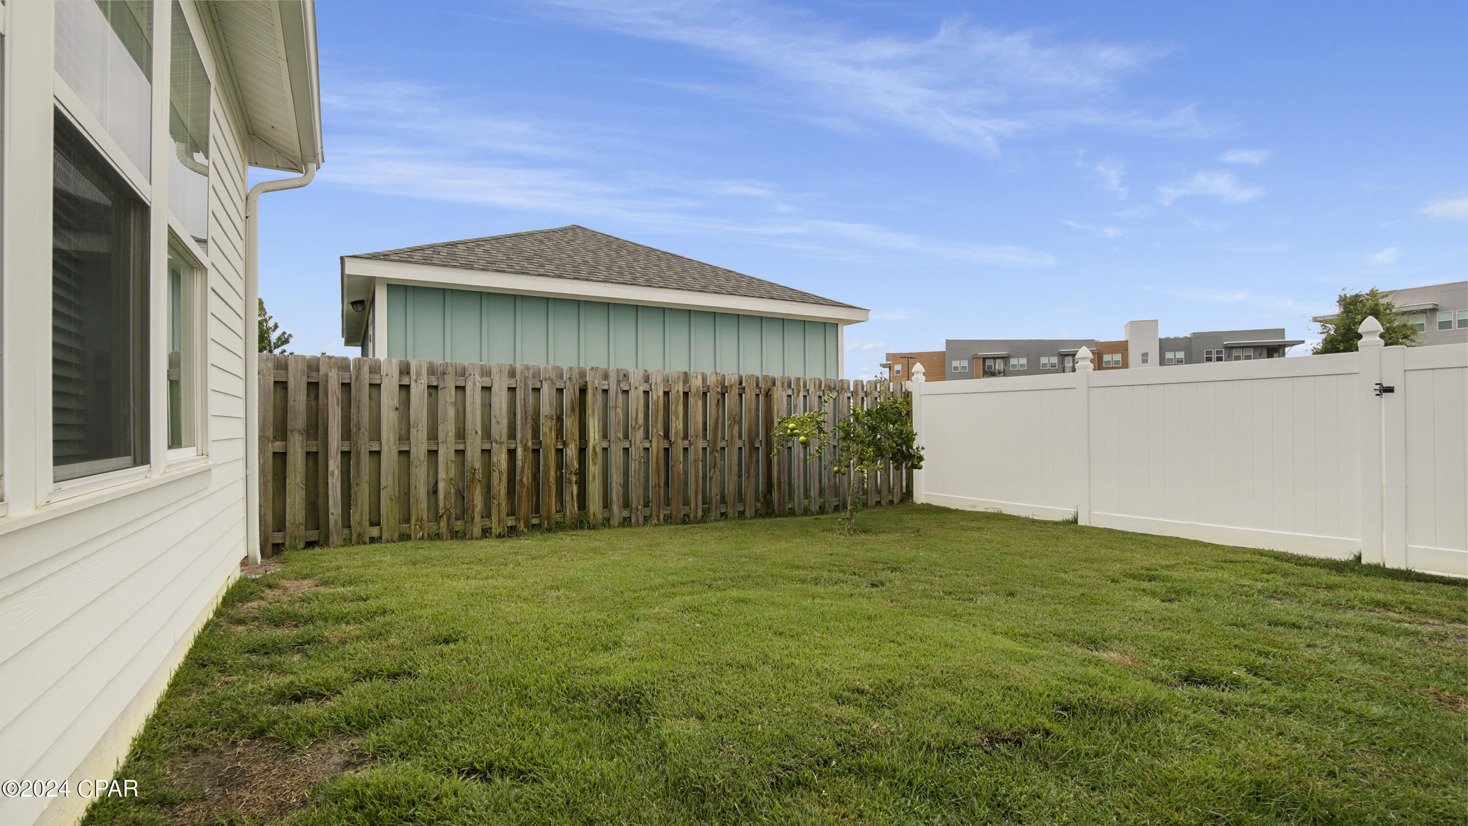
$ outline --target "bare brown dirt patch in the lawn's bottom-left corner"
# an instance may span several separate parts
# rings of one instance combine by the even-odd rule
[[[277,820],[308,805],[314,783],[370,764],[348,739],[317,742],[302,751],[258,741],[185,751],[169,775],[198,797],[157,810],[179,825]]]

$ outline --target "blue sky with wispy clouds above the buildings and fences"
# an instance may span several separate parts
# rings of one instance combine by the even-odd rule
[[[349,352],[342,254],[568,223],[872,308],[850,377],[1468,277],[1464,3],[404,9],[317,3],[326,166],[261,208],[297,352]]]

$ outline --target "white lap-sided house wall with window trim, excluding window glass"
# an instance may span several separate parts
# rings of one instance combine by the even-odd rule
[[[92,3],[85,4],[94,12]],[[0,408],[0,778],[69,781],[57,798],[0,798],[0,823],[72,823],[82,779],[110,776],[245,555],[244,113],[216,66],[217,28],[185,0],[211,81],[207,246],[195,393],[198,455],[167,450],[169,48],[172,3],[154,9],[148,202],[148,462],[101,478],[53,481],[51,156],[53,3],[6,3],[3,169],[3,408]],[[68,98],[75,104],[75,98]],[[103,154],[106,135],[73,117]],[[23,273],[23,274],[22,274]]]

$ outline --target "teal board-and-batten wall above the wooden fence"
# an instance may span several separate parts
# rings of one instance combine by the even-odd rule
[[[388,358],[838,377],[837,326],[388,285]]]

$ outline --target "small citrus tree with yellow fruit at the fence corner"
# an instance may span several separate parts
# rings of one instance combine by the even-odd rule
[[[832,403],[835,396],[826,395],[826,403]],[[869,408],[853,408],[850,415],[838,421],[832,433],[825,425],[824,409],[803,412],[799,415],[780,417],[775,423],[775,453],[799,442],[809,449],[809,462],[828,446],[837,447],[837,475],[857,474],[862,481],[887,462],[894,465],[909,465],[922,469],[922,447],[918,446],[918,431],[913,430],[912,399],[909,396],[888,396]],[[774,453],[772,453],[774,455]],[[851,521],[860,506],[857,496],[847,497],[846,531],[851,533]]]

